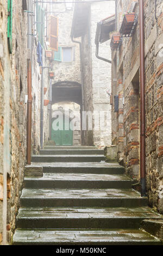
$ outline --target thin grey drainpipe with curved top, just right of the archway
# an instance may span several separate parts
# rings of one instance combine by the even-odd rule
[[[82,111],[84,111],[84,84],[83,84],[83,66],[82,66],[82,43],[80,41],[76,41],[73,39],[73,36],[71,36],[72,42],[75,42],[76,44],[79,44],[80,46],[80,72],[81,72],[81,84],[82,84]],[[82,113],[80,112],[81,120],[82,120]],[[81,122],[82,127],[82,122]],[[82,144],[84,144],[84,131],[82,130]]]

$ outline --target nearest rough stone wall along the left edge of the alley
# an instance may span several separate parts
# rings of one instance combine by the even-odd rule
[[[3,244],[10,242],[15,228],[26,161],[27,14],[23,13],[22,2],[13,2],[11,54],[7,41],[7,1],[1,3],[0,23],[1,211],[3,207],[0,243],[3,239]]]

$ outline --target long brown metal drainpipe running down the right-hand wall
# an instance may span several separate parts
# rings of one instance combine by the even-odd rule
[[[145,145],[145,32],[143,0],[139,0],[140,23],[140,179],[141,196],[146,196],[146,145]]]

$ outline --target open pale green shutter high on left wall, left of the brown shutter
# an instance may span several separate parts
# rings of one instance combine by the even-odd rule
[[[36,29],[39,35],[40,44],[44,47],[45,11],[39,4],[36,4]]]

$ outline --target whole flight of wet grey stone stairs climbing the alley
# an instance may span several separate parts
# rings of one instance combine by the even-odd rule
[[[40,178],[24,178],[14,245],[160,245],[141,229],[161,216],[117,163],[93,147],[45,147],[32,157]],[[101,162],[102,161],[102,162]]]

